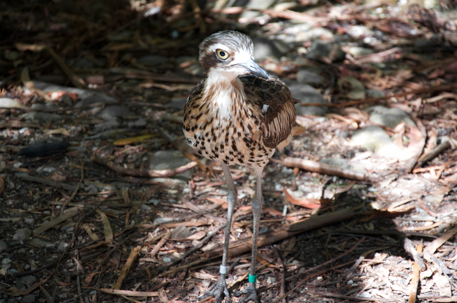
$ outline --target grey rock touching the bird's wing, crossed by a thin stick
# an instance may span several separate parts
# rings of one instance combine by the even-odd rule
[[[327,103],[322,94],[310,85],[292,80],[285,80],[284,82],[287,84],[292,97],[299,99],[302,103]],[[324,106],[302,106],[298,103],[295,104],[295,108],[297,109],[297,115],[321,116],[328,111],[327,107]]]

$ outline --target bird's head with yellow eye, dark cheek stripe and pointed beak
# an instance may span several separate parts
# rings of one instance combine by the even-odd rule
[[[217,75],[234,80],[240,75],[270,79],[267,71],[254,61],[252,40],[234,30],[213,33],[200,44],[199,62],[205,77]]]

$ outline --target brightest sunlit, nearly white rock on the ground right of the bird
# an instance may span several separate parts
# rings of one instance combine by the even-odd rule
[[[395,144],[378,126],[367,126],[357,130],[352,135],[352,141],[355,145],[372,150],[376,154],[386,158],[397,158],[402,149]]]

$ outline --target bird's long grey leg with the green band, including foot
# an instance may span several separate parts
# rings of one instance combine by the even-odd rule
[[[262,196],[262,171],[257,175],[257,184],[255,186],[255,197],[252,201],[252,214],[253,219],[253,231],[252,231],[252,251],[251,251],[251,272],[249,274],[249,284],[243,289],[243,291],[237,292],[235,295],[239,296],[245,294],[240,303],[253,300],[255,303],[259,303],[257,292],[255,289],[256,281],[256,263],[257,263],[257,240],[258,240],[258,226],[260,223],[260,213],[262,213],[262,206],[264,204],[264,197]]]

